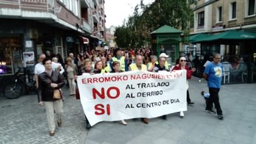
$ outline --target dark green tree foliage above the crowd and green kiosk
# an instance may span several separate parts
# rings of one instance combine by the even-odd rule
[[[141,0],[127,22],[115,30],[116,43],[119,47],[142,46],[144,40],[151,40],[150,32],[163,25],[173,26],[188,35],[193,3],[193,0],[155,0],[145,5]]]

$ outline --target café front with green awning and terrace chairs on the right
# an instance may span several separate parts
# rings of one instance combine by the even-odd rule
[[[256,82],[256,33],[232,30],[202,37],[192,43],[200,43],[195,46],[200,47],[196,48],[199,50],[196,56],[201,62],[201,74],[206,60],[218,52],[224,66],[224,84]]]

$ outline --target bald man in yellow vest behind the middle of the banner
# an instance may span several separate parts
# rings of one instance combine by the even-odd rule
[[[143,64],[141,55],[136,55],[135,63],[129,65],[129,71],[147,71],[146,65]],[[141,118],[143,123],[149,123],[147,118]]]

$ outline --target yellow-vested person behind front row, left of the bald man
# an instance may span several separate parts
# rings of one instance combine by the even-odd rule
[[[122,51],[119,48],[116,50],[115,57],[113,57],[112,60],[110,60],[110,68],[112,70],[113,70],[112,63],[115,61],[119,61],[121,71],[128,71],[128,62],[125,59],[125,57],[122,55]]]

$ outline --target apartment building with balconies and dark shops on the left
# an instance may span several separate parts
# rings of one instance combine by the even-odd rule
[[[0,77],[33,71],[46,50],[66,58],[96,48],[105,18],[104,0],[0,0]]]

